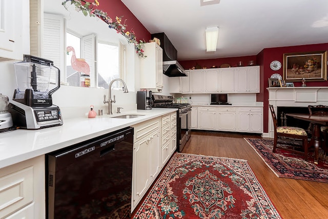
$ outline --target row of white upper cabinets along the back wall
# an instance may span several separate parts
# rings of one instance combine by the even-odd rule
[[[259,93],[259,70],[259,66],[189,70],[189,77],[170,83],[170,92]]]

